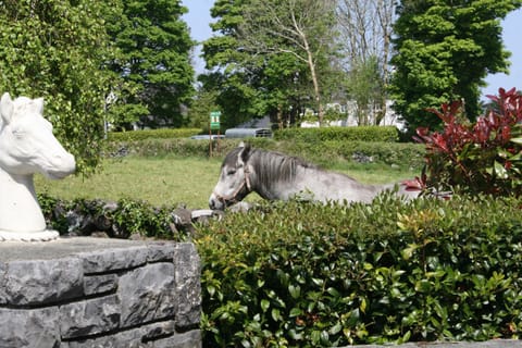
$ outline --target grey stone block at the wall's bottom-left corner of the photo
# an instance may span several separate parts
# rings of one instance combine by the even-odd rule
[[[0,308],[0,347],[58,348],[58,308],[13,310]]]

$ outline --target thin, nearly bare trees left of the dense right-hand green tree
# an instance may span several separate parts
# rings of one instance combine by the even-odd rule
[[[369,113],[375,115],[375,124],[386,114],[395,2],[339,0],[337,5],[339,38],[348,71],[347,88],[363,124],[364,120],[369,121]],[[368,110],[369,105],[372,110]]]

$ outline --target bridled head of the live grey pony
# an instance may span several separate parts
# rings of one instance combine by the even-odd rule
[[[238,148],[226,154],[221,165],[220,179],[209,198],[210,209],[223,210],[251,192],[251,166],[248,164],[250,152],[250,145],[241,142]]]

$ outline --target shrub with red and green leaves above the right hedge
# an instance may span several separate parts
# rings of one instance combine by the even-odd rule
[[[458,102],[434,111],[442,132],[419,128],[426,145],[420,187],[494,196],[522,196],[522,95],[500,88],[493,109],[470,123]]]

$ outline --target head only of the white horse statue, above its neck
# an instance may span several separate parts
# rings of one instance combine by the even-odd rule
[[[65,151],[44,119],[44,99],[3,94],[0,99],[0,167],[8,173],[36,172],[49,178],[74,173],[74,157]]]

